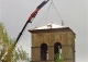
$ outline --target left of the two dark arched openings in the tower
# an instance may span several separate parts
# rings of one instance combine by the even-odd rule
[[[47,60],[47,45],[46,44],[41,45],[41,60],[42,61]]]

